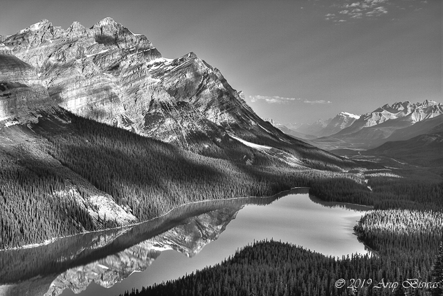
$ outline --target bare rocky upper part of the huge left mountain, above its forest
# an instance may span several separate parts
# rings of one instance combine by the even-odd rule
[[[37,82],[46,88],[37,101],[73,114],[211,157],[233,146],[233,134],[290,149],[298,159],[318,154],[341,162],[260,119],[244,94],[195,53],[163,58],[145,35],[109,17],[91,28],[74,22],[66,30],[43,19],[6,37],[3,44],[15,60],[34,69]],[[10,112],[12,118],[12,105],[4,104],[2,100],[2,117]]]

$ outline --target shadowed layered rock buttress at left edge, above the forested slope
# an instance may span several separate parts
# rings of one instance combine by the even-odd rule
[[[51,105],[35,69],[0,44],[0,121],[26,122],[35,119],[30,113]]]

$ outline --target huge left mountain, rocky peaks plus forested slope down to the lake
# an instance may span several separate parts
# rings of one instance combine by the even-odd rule
[[[0,49],[0,249],[361,166],[260,119],[195,53],[163,58],[111,18],[44,19]]]

